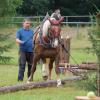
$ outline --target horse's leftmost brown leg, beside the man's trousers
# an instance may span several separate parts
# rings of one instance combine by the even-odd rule
[[[33,65],[32,65],[32,68],[31,68],[31,74],[28,78],[28,82],[33,81],[33,75],[34,75],[34,72],[36,71],[36,65],[37,65],[37,62],[39,61],[39,59],[40,59],[40,57],[38,55],[34,55]]]

